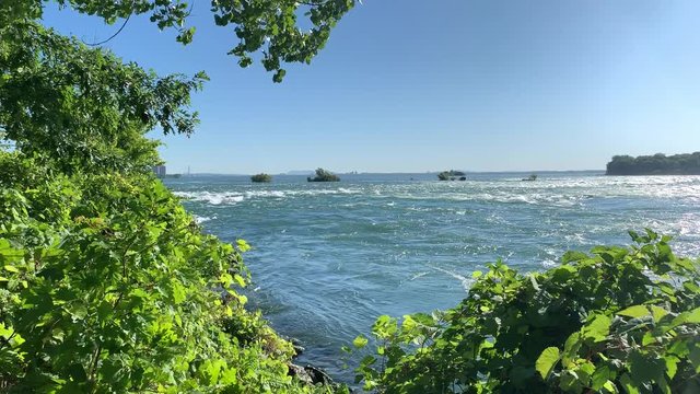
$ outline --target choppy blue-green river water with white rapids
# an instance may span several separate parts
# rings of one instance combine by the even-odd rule
[[[678,255],[700,255],[700,177],[600,173],[342,175],[339,183],[277,176],[167,179],[206,231],[245,239],[249,294],[279,332],[343,381],[340,347],[381,314],[454,306],[470,274],[502,258],[524,271],[564,251],[628,244],[644,227],[675,236]]]

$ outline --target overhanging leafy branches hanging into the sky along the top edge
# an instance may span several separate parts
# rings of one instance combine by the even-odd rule
[[[160,30],[173,28],[176,39],[191,43],[195,27],[187,25],[195,1],[183,0],[55,0],[60,7],[97,15],[113,24],[119,18],[132,14],[150,14],[151,22]],[[0,26],[15,21],[39,19],[43,0],[0,2]],[[260,54],[260,62],[268,71],[275,71],[273,81],[281,82],[284,62],[308,63],[325,46],[331,28],[354,7],[354,0],[211,0],[210,11],[219,26],[231,26],[237,44],[229,51],[238,58],[241,67],[253,62],[252,56]],[[200,11],[200,9],[197,9]],[[300,23],[299,16],[304,19]],[[311,28],[302,28],[311,25]]]

